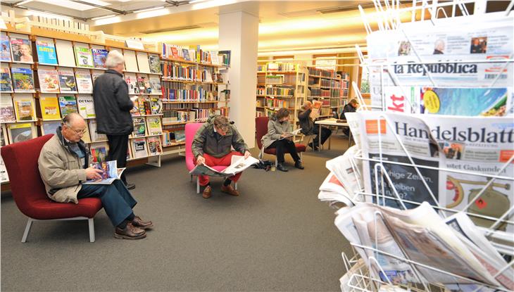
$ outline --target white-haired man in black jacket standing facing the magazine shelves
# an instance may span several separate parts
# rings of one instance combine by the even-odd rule
[[[107,160],[118,161],[118,167],[127,165],[128,137],[134,128],[130,115],[134,102],[130,100],[127,83],[123,80],[124,64],[119,51],[110,51],[106,60],[107,70],[96,78],[93,89],[96,131],[107,135]],[[136,187],[135,184],[127,184],[125,173],[121,180],[127,189]]]

